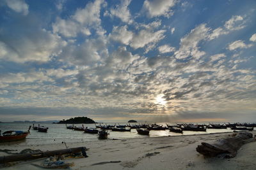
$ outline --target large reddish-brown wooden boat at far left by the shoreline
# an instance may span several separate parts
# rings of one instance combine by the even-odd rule
[[[3,132],[3,135],[1,135],[1,131],[0,131],[0,143],[3,142],[10,142],[10,141],[19,141],[22,139],[26,139],[26,137],[29,134],[29,130],[31,128],[31,125],[29,126],[28,131],[6,131]]]

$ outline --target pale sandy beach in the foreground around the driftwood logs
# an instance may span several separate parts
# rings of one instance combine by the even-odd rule
[[[256,134],[252,132],[253,136]],[[68,148],[85,146],[90,148],[86,158],[70,158],[65,162],[74,162],[70,169],[256,169],[256,142],[243,145],[232,159],[207,158],[196,152],[201,142],[211,143],[226,138],[232,132],[219,134],[201,134],[194,136],[168,136],[159,138],[106,139],[68,143]],[[65,145],[1,145],[1,149],[15,149],[17,152],[31,148],[58,150]],[[0,152],[0,156],[8,155]],[[3,169],[42,169],[31,163],[40,164],[44,159],[12,163]]]

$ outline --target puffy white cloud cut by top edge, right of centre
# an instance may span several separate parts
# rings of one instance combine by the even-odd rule
[[[161,15],[170,17],[173,15],[173,11],[170,8],[175,3],[175,0],[146,0],[143,8],[148,11],[148,17],[159,17]]]

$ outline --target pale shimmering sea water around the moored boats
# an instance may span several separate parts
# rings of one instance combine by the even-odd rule
[[[110,125],[114,125],[115,123],[109,123]],[[120,124],[120,125],[125,125]],[[166,123],[158,123],[162,125],[166,125]],[[167,123],[171,124],[171,123]],[[33,125],[31,123],[1,123],[0,130],[3,133],[4,131],[10,130],[19,130],[19,131],[27,131],[29,125]],[[38,124],[35,124],[38,125]],[[135,125],[132,123],[131,125]],[[175,125],[175,124],[173,124]],[[83,131],[73,131],[71,129],[67,129],[65,124],[40,124],[40,126],[49,127],[47,133],[37,132],[31,128],[30,134],[27,136],[26,140],[20,141],[20,143],[24,143],[26,145],[37,145],[42,144],[51,144],[51,143],[73,143],[79,141],[95,141],[99,140],[97,134],[87,134]],[[82,124],[76,124],[77,127],[81,127]],[[95,124],[84,124],[84,127],[95,127]],[[152,138],[152,137],[160,137],[160,136],[180,136],[180,135],[191,135],[191,134],[210,134],[216,132],[232,132],[232,130],[228,129],[207,129],[206,132],[193,132],[193,131],[184,131],[183,134],[170,132],[169,130],[165,131],[150,131],[149,136],[143,136],[137,133],[136,129],[131,129],[131,132],[113,132],[108,131],[109,136],[108,139],[126,139],[126,138]],[[16,142],[17,143],[17,142]],[[11,143],[10,143],[11,144]],[[3,143],[0,145],[3,145]]]

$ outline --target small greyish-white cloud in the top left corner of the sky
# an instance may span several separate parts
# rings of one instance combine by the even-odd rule
[[[12,10],[22,13],[23,15],[28,15],[28,4],[23,0],[5,0],[7,6]]]

